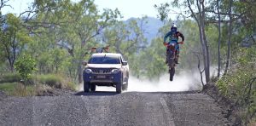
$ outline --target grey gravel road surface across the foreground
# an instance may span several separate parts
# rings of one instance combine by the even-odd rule
[[[0,100],[0,125],[225,125],[207,94],[83,92]]]

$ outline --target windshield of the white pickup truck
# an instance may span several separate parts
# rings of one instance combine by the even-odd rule
[[[89,64],[120,64],[119,56],[93,56],[90,58]]]

